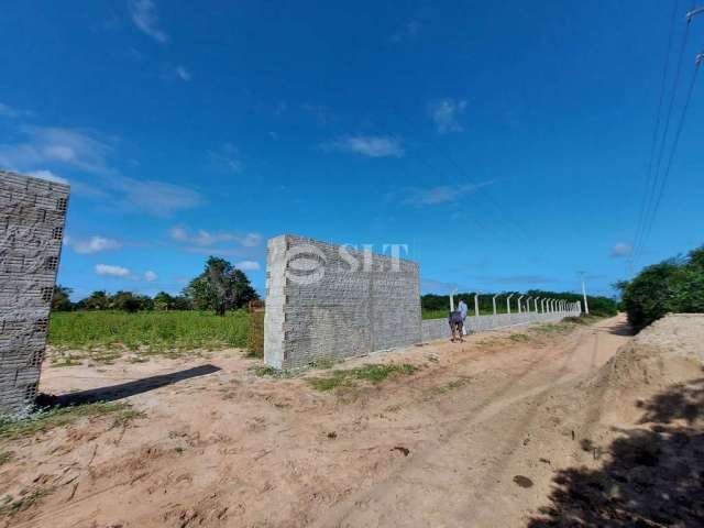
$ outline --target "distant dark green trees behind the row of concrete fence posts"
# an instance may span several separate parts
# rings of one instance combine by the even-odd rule
[[[498,295],[496,297],[496,307],[497,311],[505,312],[506,309],[506,297],[513,294],[510,299],[512,311],[517,311],[518,298],[522,295],[522,302],[526,301],[526,298],[531,297],[534,299],[560,299],[568,300],[574,302],[576,300],[583,302],[583,297],[581,294],[573,294],[570,292],[546,292],[542,289],[529,289],[528,292],[502,292],[501,294],[493,293],[482,293],[480,294],[479,304],[480,311],[487,312],[493,310],[492,297],[494,295]],[[460,300],[464,300],[466,305],[470,307],[470,311],[474,310],[474,293],[459,293],[454,295],[454,306],[458,305]],[[590,314],[595,316],[615,316],[618,312],[618,302],[615,299],[604,296],[594,296],[587,295],[586,301],[590,305]],[[436,294],[426,294],[420,297],[420,306],[424,310],[450,310],[450,296],[449,295],[436,295]],[[532,309],[532,300],[531,300],[531,309]]]

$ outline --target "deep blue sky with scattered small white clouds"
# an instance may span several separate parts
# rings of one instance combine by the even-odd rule
[[[425,292],[610,295],[672,3],[499,3],[6,0],[0,166],[70,182],[76,298],[176,293],[209,254],[262,292],[285,232],[408,244]],[[636,270],[704,242],[703,118],[698,89]]]

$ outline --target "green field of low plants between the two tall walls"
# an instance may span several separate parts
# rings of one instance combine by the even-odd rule
[[[57,349],[128,349],[151,353],[244,348],[250,315],[202,311],[68,311],[52,314],[48,343]]]

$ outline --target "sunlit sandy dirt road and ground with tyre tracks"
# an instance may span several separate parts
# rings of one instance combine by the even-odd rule
[[[237,350],[47,367],[43,392],[144,418],[14,441],[2,487],[47,493],[0,526],[526,526],[557,471],[603,463],[608,411],[634,402],[596,374],[630,339],[620,316],[507,329],[348,361],[419,369],[333,392],[306,383],[329,371],[262,377]]]

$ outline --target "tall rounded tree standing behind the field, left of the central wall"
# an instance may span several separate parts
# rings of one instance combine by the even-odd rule
[[[244,272],[216,256],[208,258],[204,272],[190,282],[184,293],[193,299],[196,308],[213,310],[219,316],[258,298]]]

